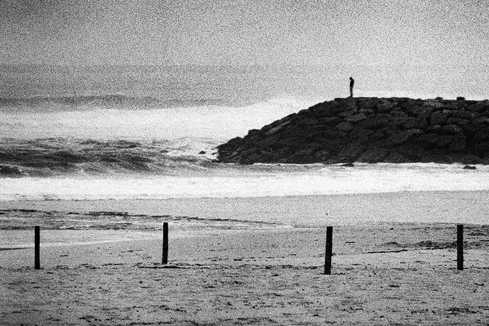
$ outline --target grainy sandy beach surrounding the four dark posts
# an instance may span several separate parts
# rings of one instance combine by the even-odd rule
[[[377,196],[384,206],[407,197],[416,199],[412,193]],[[443,202],[439,194],[424,194],[428,200],[430,196]],[[302,202],[314,200],[324,198]],[[330,203],[335,200],[351,197],[330,198]],[[261,201],[244,200],[241,209],[258,206]],[[54,202],[50,211],[45,207],[49,203],[24,202],[23,208],[15,208],[13,203],[3,202],[0,324],[489,322],[487,223],[465,223],[465,269],[457,271],[454,223],[398,221],[406,212],[393,216],[392,221],[335,221],[331,223],[333,271],[324,275],[328,221],[319,223],[316,216],[312,223],[295,223],[291,212],[283,223],[264,216],[246,220],[241,209],[238,218],[219,218],[227,209],[224,207],[233,206],[233,200],[220,202],[220,209],[214,206],[213,217],[206,215],[210,205],[204,200],[203,217],[177,216],[173,214],[178,212],[168,209],[168,214],[161,214],[156,221],[154,216],[123,214],[124,205],[112,212],[86,214],[78,210],[77,214],[66,214],[73,209],[68,206],[80,202]],[[416,213],[414,202],[409,204],[415,209],[411,214]],[[26,205],[38,209],[27,211]],[[85,212],[101,203],[90,205],[85,202]],[[191,201],[184,206],[182,212],[195,209]],[[274,206],[266,208],[270,211]],[[365,207],[365,212],[370,214],[370,208]],[[161,265],[162,221],[170,223],[168,265]],[[41,225],[41,270],[34,269],[33,225]]]

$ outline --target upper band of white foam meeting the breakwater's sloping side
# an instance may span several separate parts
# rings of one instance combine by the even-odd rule
[[[78,138],[101,140],[206,139],[219,142],[307,108],[312,101],[272,98],[244,107],[200,106],[148,110],[0,111],[2,138]]]

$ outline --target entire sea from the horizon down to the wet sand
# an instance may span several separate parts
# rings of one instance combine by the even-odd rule
[[[341,69],[0,70],[1,201],[489,190],[489,167],[483,165],[216,163],[217,145],[344,96]],[[358,95],[430,94],[428,88],[392,89],[388,80],[373,89],[359,84]],[[483,98],[477,92],[474,98]]]

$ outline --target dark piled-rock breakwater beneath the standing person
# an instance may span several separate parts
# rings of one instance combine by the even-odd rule
[[[217,149],[242,164],[489,164],[489,101],[336,98]]]

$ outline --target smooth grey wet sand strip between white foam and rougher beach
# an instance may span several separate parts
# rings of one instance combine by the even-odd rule
[[[127,212],[265,222],[295,227],[381,222],[489,224],[489,191],[404,191],[345,195],[166,200],[0,201],[0,209]]]

